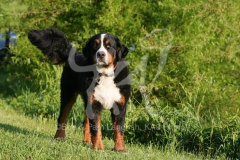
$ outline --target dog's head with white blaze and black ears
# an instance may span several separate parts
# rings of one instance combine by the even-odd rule
[[[101,33],[91,37],[83,48],[83,54],[92,64],[97,65],[97,70],[111,70],[118,61],[126,57],[127,47],[120,40],[108,33]]]

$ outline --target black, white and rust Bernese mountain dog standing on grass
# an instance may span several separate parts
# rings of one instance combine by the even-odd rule
[[[111,111],[114,150],[125,151],[124,121],[131,91],[129,70],[124,60],[127,47],[117,37],[100,33],[91,37],[80,53],[56,28],[30,30],[28,39],[53,64],[64,64],[55,138],[66,136],[67,118],[80,94],[85,107],[83,141],[92,143],[93,149],[104,149],[100,118],[101,110],[107,109]]]

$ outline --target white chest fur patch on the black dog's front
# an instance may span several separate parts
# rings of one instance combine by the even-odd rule
[[[94,89],[94,99],[99,101],[104,109],[111,109],[113,104],[121,99],[119,88],[113,79],[114,76],[101,76]]]

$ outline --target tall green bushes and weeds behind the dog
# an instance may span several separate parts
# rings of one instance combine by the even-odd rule
[[[62,67],[28,42],[27,31],[57,27],[79,50],[109,32],[135,47],[127,56],[128,142],[239,158],[239,14],[238,2],[227,0],[2,0],[1,32],[10,27],[19,37],[16,56],[1,65],[0,96],[27,115],[55,118]],[[70,121],[79,125],[82,102],[76,106]]]

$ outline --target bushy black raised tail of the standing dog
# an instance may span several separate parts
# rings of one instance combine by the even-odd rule
[[[28,39],[54,64],[67,61],[72,48],[69,40],[56,28],[30,30]]]

